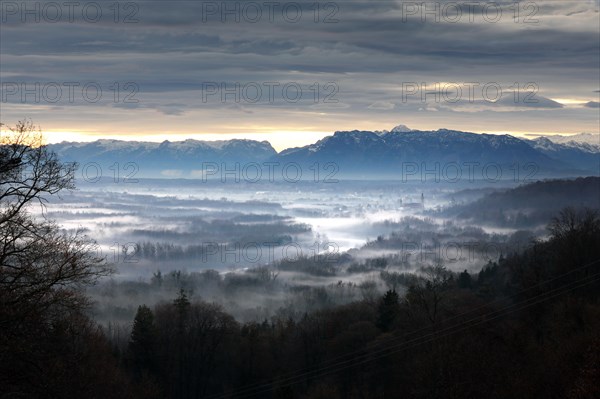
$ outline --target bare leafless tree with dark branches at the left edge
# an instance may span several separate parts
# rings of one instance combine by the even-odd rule
[[[80,231],[64,233],[30,209],[73,189],[77,165],[61,163],[31,121],[0,132],[0,330],[7,332],[32,313],[81,309],[80,288],[111,268]]]

